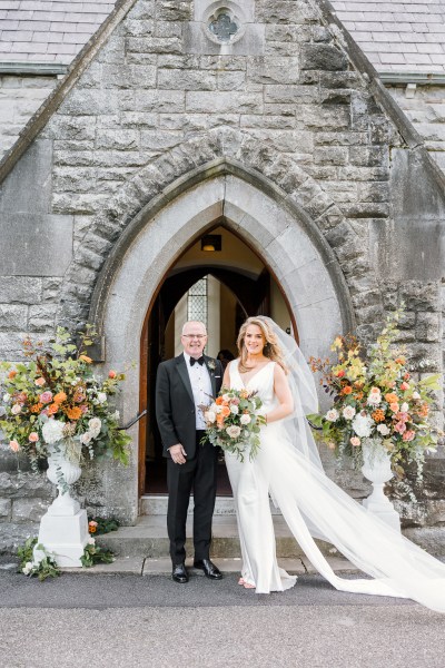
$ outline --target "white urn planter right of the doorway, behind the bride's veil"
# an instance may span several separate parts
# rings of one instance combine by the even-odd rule
[[[400,531],[400,517],[387,497],[384,487],[393,478],[390,455],[379,439],[363,440],[362,473],[373,483],[373,492],[363,505],[396,531]]]

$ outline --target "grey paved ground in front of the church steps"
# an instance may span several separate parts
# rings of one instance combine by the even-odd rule
[[[354,576],[348,576],[354,577]],[[337,592],[304,574],[258,596],[237,576],[0,571],[2,668],[443,668],[445,617],[411,601]]]

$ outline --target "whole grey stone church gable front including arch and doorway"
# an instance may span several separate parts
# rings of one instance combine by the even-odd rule
[[[0,357],[91,323],[98,371],[128,366],[122,423],[148,410],[130,465],[82,477],[97,514],[134,523],[158,489],[152,376],[207,276],[212,354],[263,312],[325,356],[403,303],[414,373],[443,373],[445,177],[328,2],[117,3],[0,178]],[[407,525],[445,521],[443,461],[421,504],[399,502]],[[332,474],[360,495],[360,477]],[[3,444],[4,523],[37,521],[50,494]]]

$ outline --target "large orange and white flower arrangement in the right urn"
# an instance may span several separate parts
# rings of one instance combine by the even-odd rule
[[[334,397],[334,406],[308,419],[337,454],[358,459],[364,442],[382,443],[395,473],[403,477],[403,465],[416,462],[421,477],[425,453],[436,450],[441,435],[428,421],[438,375],[413,377],[404,352],[396,347],[399,316],[396,312],[387,318],[366,362],[352,335],[334,341],[337,362],[310,357],[312,370],[320,373],[320,384]]]

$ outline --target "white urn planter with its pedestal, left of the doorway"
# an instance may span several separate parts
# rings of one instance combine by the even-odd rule
[[[60,567],[81,567],[80,558],[89,540],[87,511],[71,498],[69,487],[79,480],[81,468],[66,456],[65,441],[50,446],[49,480],[57,484],[58,495],[40,521],[38,544],[52,552]],[[34,554],[39,558],[39,554]]]

